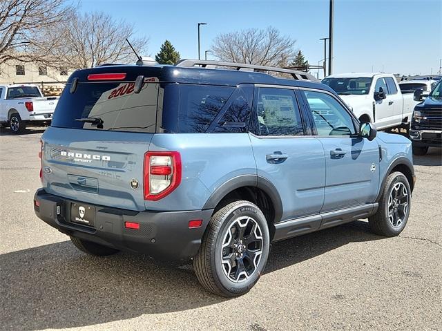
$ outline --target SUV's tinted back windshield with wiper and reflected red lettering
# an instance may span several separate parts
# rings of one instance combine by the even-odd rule
[[[66,86],[55,110],[52,126],[69,129],[100,129],[154,133],[160,84],[145,82],[133,93],[133,82],[79,83],[75,93]],[[80,119],[98,118],[97,124]]]

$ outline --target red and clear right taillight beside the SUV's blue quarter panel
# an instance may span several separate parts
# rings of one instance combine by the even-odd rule
[[[181,182],[181,155],[178,152],[144,154],[144,200],[160,200]]]

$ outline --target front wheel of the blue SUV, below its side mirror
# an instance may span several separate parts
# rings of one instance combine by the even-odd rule
[[[381,236],[398,236],[407,224],[411,207],[411,189],[401,172],[388,175],[379,200],[378,211],[368,218],[374,233]]]

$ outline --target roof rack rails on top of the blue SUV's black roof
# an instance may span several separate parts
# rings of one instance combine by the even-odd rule
[[[221,67],[235,68],[235,70],[238,71],[253,71],[258,73],[272,71],[275,73],[287,73],[291,75],[291,77],[297,80],[309,80],[309,81],[318,82],[318,79],[316,79],[314,76],[310,75],[309,73],[305,73],[304,71],[284,69],[284,68],[274,68],[271,66],[258,66],[256,64],[241,64],[233,62],[209,61],[209,60],[198,60],[198,59],[182,59],[180,62],[177,62],[175,66],[180,66],[180,67],[199,66],[200,68],[213,68],[213,69],[216,69],[217,67],[221,66]]]

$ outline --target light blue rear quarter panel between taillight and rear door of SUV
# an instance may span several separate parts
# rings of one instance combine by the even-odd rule
[[[256,175],[247,133],[157,133],[149,151],[179,151],[182,181],[169,196],[145,201],[157,211],[202,209],[224,182],[240,175]]]

